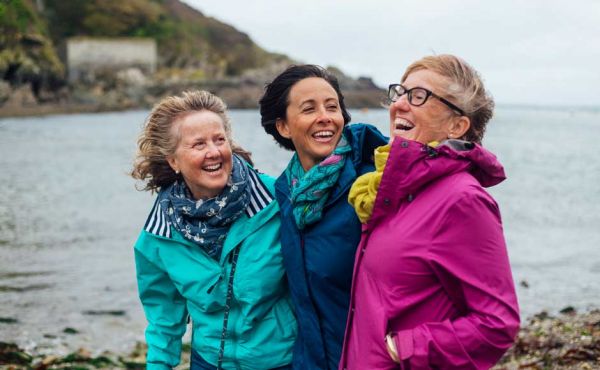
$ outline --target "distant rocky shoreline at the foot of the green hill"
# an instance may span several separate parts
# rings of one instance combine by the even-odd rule
[[[162,98],[185,90],[208,90],[220,96],[229,108],[257,109],[265,84],[286,66],[275,65],[215,80],[160,73],[146,76],[137,68],[117,73],[96,71],[84,81],[37,93],[31,84],[11,86],[0,81],[0,118],[150,109]],[[338,77],[349,108],[381,107],[385,92],[370,78],[354,79],[336,68],[330,68],[330,72]]]

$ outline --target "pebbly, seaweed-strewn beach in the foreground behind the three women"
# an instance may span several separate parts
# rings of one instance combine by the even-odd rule
[[[0,342],[0,369],[144,369],[145,351],[145,345],[137,343],[126,355],[93,356],[82,348],[62,357],[42,356]],[[189,344],[184,344],[183,352],[178,369],[189,368]],[[557,316],[534,315],[523,323],[514,346],[493,369],[600,369],[600,310],[577,313],[567,307]]]

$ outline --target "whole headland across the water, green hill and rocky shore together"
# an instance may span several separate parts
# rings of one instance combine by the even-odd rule
[[[106,70],[68,82],[65,45],[73,37],[154,39],[157,70]],[[293,63],[179,0],[0,2],[0,116],[143,108],[185,89],[255,108],[264,84]],[[379,105],[382,91],[369,78],[331,71],[349,106]]]

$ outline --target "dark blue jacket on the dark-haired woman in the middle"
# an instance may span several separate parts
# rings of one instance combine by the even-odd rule
[[[350,302],[354,254],[360,222],[348,204],[354,180],[374,170],[373,151],[387,138],[375,127],[344,128],[353,150],[332,189],[323,218],[303,231],[292,214],[285,173],[275,182],[281,215],[281,251],[298,320],[294,369],[337,369]]]

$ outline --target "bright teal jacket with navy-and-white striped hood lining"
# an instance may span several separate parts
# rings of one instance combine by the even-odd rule
[[[179,363],[188,315],[192,348],[216,365],[231,256],[238,245],[223,367],[270,369],[291,363],[297,328],[283,269],[274,183],[250,172],[250,205],[229,229],[218,262],[171,228],[155,203],[135,244],[139,296],[148,320],[148,369]]]

